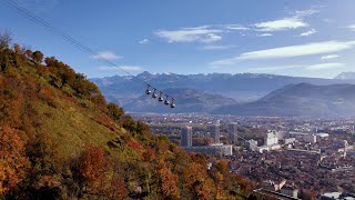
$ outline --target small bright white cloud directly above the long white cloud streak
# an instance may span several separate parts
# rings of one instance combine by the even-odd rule
[[[308,27],[308,23],[298,18],[284,18],[275,21],[255,23],[254,27],[256,27],[258,31],[270,32]]]

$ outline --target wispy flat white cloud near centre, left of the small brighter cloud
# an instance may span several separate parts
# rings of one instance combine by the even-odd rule
[[[168,42],[203,42],[210,43],[222,40],[221,29],[212,29],[210,26],[195,28],[181,28],[179,30],[159,30],[154,33],[168,40]]]

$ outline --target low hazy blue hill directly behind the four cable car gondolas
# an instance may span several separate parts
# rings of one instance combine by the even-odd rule
[[[221,106],[234,104],[236,101],[232,98],[225,98],[219,94],[210,94],[194,89],[168,88],[164,92],[178,97],[174,101],[178,107],[171,109],[164,107],[162,102],[152,100],[145,94],[132,99],[130,103],[125,103],[125,109],[133,112],[210,112]]]

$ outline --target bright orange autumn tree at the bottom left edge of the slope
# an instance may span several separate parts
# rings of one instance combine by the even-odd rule
[[[0,196],[22,180],[27,163],[23,140],[16,129],[3,127],[0,130]]]

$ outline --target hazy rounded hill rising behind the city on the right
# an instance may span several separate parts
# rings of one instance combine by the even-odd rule
[[[288,117],[354,117],[355,86],[288,84],[257,101],[226,106],[216,113]]]

